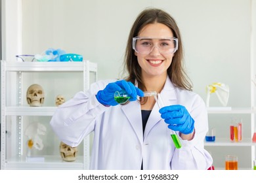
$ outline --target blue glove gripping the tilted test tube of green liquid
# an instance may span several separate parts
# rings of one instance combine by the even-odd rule
[[[160,108],[161,118],[168,124],[169,129],[184,134],[192,133],[194,120],[182,105],[170,105]]]

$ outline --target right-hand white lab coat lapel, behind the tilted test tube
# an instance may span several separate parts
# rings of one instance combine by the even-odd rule
[[[171,83],[171,80],[169,80],[169,77],[167,78],[165,82],[165,86],[163,87],[163,90],[161,91],[160,95],[163,101],[163,105],[167,106],[167,105],[177,104],[177,93],[175,92],[175,87]],[[144,131],[144,139],[146,138],[148,133],[150,133],[150,130],[152,129],[152,127],[154,127],[154,125],[160,122],[161,115],[160,115],[159,109],[160,108],[156,103],[148,118],[148,122],[146,124],[146,128]]]

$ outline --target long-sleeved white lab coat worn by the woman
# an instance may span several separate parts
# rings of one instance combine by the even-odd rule
[[[77,146],[94,131],[90,169],[207,169],[212,158],[204,149],[203,139],[208,130],[207,110],[202,98],[193,92],[175,88],[167,78],[160,95],[165,105],[184,105],[195,121],[192,141],[183,141],[175,148],[167,124],[154,105],[144,135],[140,103],[104,107],[95,95],[109,82],[99,81],[86,93],[60,105],[51,125],[60,141]],[[179,134],[179,133],[177,133]],[[179,136],[179,135],[178,135]]]

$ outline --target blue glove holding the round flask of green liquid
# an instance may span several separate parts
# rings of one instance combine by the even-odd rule
[[[119,103],[117,103],[114,99],[114,93],[121,90],[125,90],[126,93],[130,95],[129,101],[136,101],[137,95],[140,97],[144,96],[142,90],[134,86],[133,83],[127,82],[126,80],[117,80],[116,82],[109,83],[104,90],[98,91],[96,94],[96,99],[102,105],[118,105]]]

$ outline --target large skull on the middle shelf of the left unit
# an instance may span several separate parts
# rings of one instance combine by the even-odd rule
[[[27,90],[27,102],[31,107],[41,107],[45,100],[45,92],[39,84],[32,84]]]

